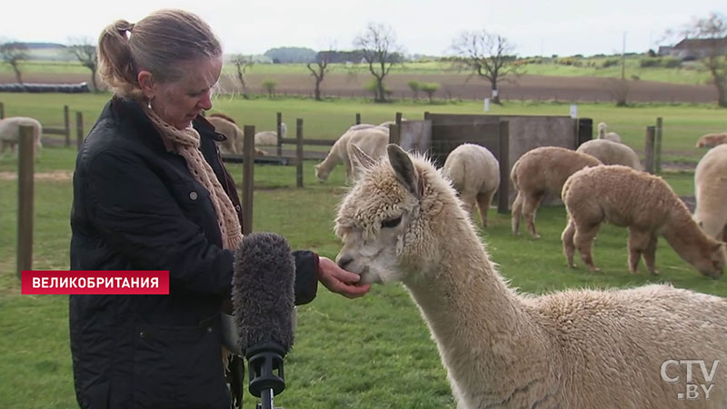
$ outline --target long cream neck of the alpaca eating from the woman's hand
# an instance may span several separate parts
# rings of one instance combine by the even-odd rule
[[[500,402],[503,391],[513,390],[513,379],[501,374],[543,376],[557,360],[533,310],[503,282],[477,236],[462,230],[448,233],[459,235],[447,235],[452,240],[441,246],[441,262],[428,272],[433,276],[404,284],[468,402]],[[525,376],[517,381],[534,382]]]

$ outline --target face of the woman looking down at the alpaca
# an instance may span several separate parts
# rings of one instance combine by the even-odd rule
[[[154,84],[152,109],[177,129],[192,125],[194,118],[212,108],[212,88],[222,71],[222,57],[202,58],[179,67],[185,75],[177,81]]]

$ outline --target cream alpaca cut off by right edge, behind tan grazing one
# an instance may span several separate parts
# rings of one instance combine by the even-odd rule
[[[727,241],[727,145],[702,156],[694,172],[694,221],[704,233]]]

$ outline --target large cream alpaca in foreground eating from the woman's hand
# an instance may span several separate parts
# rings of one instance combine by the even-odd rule
[[[344,197],[337,263],[364,283],[400,281],[436,342],[460,409],[723,408],[727,404],[727,302],[649,285],[569,290],[540,297],[504,282],[456,194],[432,164],[396,145]],[[692,358],[693,357],[693,358]],[[710,400],[678,400],[686,368],[721,360]]]

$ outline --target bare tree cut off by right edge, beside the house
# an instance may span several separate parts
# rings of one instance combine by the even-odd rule
[[[717,87],[717,105],[727,107],[727,17],[712,13],[694,19],[682,34],[702,39],[706,45],[709,52],[702,58],[702,64],[712,74],[712,82]]]

